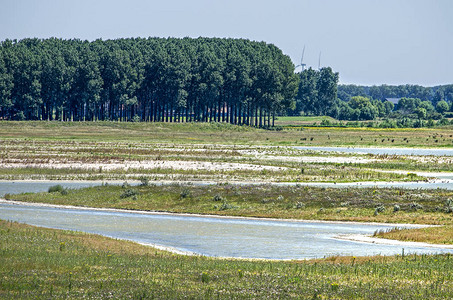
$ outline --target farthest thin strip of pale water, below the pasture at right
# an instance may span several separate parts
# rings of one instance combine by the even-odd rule
[[[453,156],[453,148],[423,149],[423,148],[365,148],[365,147],[311,147],[295,146],[298,150],[329,151],[374,155],[420,155],[420,156]]]

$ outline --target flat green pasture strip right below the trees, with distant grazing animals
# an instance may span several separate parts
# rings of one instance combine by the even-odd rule
[[[272,131],[224,123],[0,121],[2,139],[226,145],[451,147],[446,128],[376,129],[300,127]]]

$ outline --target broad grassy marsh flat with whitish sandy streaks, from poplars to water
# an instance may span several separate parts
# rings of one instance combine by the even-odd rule
[[[453,170],[448,157],[335,154],[288,147],[376,145],[373,141],[378,138],[391,143],[390,135],[397,140],[395,145],[430,146],[422,140],[431,141],[432,136],[442,136],[445,145],[453,141],[447,132],[429,130],[417,137],[410,130],[276,132],[228,124],[0,122],[0,133],[0,179],[7,180],[147,176],[179,181],[415,181],[425,178],[408,173]]]

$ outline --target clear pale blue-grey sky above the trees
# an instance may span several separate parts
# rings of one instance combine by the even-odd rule
[[[0,0],[5,39],[265,41],[340,83],[453,83],[453,0]],[[299,70],[299,69],[297,69]]]

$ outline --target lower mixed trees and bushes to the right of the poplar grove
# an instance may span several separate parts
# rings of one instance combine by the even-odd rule
[[[330,68],[309,68],[298,75],[299,90],[295,108],[288,111],[290,115],[328,115],[349,121],[396,119],[401,124],[417,119],[418,123],[410,121],[417,126],[423,125],[423,120],[453,116],[453,84],[338,85],[338,73]]]

